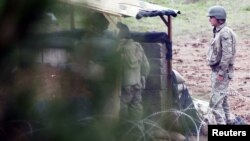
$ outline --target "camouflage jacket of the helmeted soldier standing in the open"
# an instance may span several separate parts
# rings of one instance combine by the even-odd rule
[[[218,71],[218,74],[223,76],[234,65],[236,35],[226,24],[217,26],[214,29],[214,34],[215,36],[207,52],[207,61],[212,69]]]

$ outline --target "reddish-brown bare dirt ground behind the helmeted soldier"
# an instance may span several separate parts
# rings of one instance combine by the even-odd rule
[[[186,79],[192,96],[208,101],[211,90],[206,52],[210,42],[208,35],[200,35],[192,41],[173,43],[173,68]],[[234,79],[230,83],[229,103],[232,113],[250,123],[250,41],[238,38]]]

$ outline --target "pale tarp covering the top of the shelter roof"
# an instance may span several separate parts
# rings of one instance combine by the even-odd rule
[[[180,11],[141,0],[59,0],[75,6],[87,7],[100,12],[123,17],[136,17],[140,11]],[[169,13],[169,12],[168,12]]]

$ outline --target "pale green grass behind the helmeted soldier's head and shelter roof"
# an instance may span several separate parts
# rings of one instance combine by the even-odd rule
[[[176,18],[173,18],[173,40],[186,40],[191,39],[197,35],[203,35],[211,31],[212,27],[207,18],[207,11],[210,6],[222,5],[226,8],[228,12],[227,24],[236,30],[240,30],[245,25],[249,25],[250,22],[250,1],[247,0],[227,0],[227,1],[217,1],[200,0],[196,3],[183,3],[180,0],[148,0],[154,4],[162,5],[164,7],[169,7],[181,11],[181,14]],[[163,24],[160,18],[143,18],[136,20],[134,18],[123,19],[123,22],[129,25],[131,30],[135,31],[166,31],[167,28]],[[245,37],[243,33],[239,31],[239,36]]]

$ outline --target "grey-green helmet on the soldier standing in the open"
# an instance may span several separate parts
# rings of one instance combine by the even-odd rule
[[[222,6],[212,6],[208,10],[208,17],[215,17],[216,19],[226,19],[227,13],[224,7]]]

